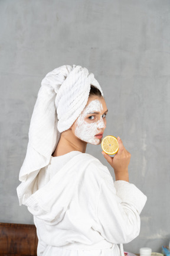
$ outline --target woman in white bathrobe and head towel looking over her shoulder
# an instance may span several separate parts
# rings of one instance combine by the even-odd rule
[[[19,203],[34,215],[37,255],[118,256],[117,244],[140,231],[146,196],[129,183],[130,153],[103,155],[115,171],[85,153],[99,145],[107,107],[92,73],[61,66],[42,80],[29,130],[27,155],[19,173]]]

